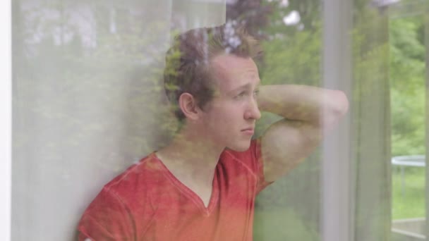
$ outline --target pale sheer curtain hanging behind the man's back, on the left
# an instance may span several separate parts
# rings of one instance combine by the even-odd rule
[[[12,4],[12,240],[75,240],[102,185],[170,137],[171,30],[222,24],[225,3]]]

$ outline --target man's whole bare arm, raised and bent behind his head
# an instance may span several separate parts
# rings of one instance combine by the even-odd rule
[[[306,85],[265,85],[260,111],[283,116],[261,137],[265,180],[274,181],[306,158],[349,109],[344,92]]]

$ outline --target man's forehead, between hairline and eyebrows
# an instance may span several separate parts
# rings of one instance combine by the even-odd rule
[[[210,72],[221,91],[260,82],[258,68],[252,58],[223,54],[214,57],[211,63]]]

